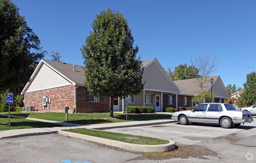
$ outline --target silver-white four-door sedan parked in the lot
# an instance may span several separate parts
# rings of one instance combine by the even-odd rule
[[[232,104],[227,103],[200,104],[193,110],[173,113],[172,119],[183,125],[188,123],[214,123],[221,124],[223,128],[237,127],[241,123],[253,121],[250,111],[236,110]]]

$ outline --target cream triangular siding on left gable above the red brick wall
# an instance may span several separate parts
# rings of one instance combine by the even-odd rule
[[[38,91],[54,87],[71,85],[69,81],[60,76],[47,65],[43,64],[26,92]]]

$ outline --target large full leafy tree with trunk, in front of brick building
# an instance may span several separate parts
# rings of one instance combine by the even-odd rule
[[[111,98],[110,117],[113,117],[113,97],[139,94],[143,65],[136,59],[137,45],[128,22],[119,11],[103,10],[96,15],[93,31],[81,51],[85,65],[85,86],[94,96]]]

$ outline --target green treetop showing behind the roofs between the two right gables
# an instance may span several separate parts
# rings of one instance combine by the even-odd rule
[[[193,67],[189,65],[187,67],[187,64],[180,64],[177,67],[175,67],[174,71],[171,71],[171,68],[169,67],[167,69],[167,74],[169,74],[170,78],[172,80],[184,80],[184,79],[193,79],[195,78],[195,75],[193,72],[199,72],[199,69],[197,67]]]

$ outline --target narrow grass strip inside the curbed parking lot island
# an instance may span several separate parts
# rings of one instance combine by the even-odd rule
[[[90,130],[86,128],[69,129],[69,130],[63,130],[63,131],[81,133],[84,135],[101,137],[105,139],[122,141],[122,142],[132,143],[132,144],[159,145],[159,144],[169,143],[169,141],[167,140],[153,138],[153,137],[137,136],[137,135],[124,134],[124,133],[105,132],[101,130]]]

